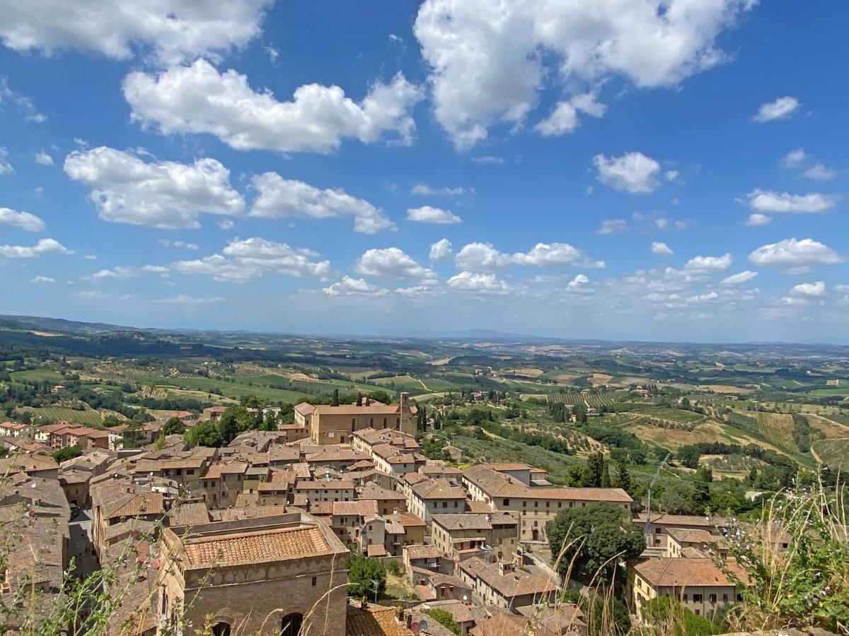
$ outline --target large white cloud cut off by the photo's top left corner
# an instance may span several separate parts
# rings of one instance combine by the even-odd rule
[[[0,41],[16,51],[53,55],[76,49],[127,59],[152,52],[162,64],[244,47],[260,33],[271,0],[110,0],[19,3],[0,0]]]

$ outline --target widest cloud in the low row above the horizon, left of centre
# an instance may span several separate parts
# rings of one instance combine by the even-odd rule
[[[330,271],[328,260],[311,260],[318,256],[311,249],[290,248],[259,237],[234,239],[222,251],[202,259],[178,260],[171,265],[172,270],[212,276],[218,282],[247,282],[266,272],[323,278]]]

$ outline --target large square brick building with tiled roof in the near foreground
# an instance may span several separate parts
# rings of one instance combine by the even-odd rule
[[[162,537],[160,629],[344,636],[348,550],[312,516],[289,513],[194,527]]]

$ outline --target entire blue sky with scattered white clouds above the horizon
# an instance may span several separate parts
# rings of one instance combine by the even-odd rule
[[[847,19],[0,0],[0,313],[846,338]]]

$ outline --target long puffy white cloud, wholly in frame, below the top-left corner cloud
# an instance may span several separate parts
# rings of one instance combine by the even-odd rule
[[[410,114],[422,90],[398,73],[389,84],[375,82],[360,103],[339,86],[305,84],[294,100],[279,102],[270,91],[256,92],[245,75],[219,73],[204,59],[160,75],[133,71],[124,80],[132,120],[158,126],[162,134],[208,133],[237,150],[331,153],[345,138],[412,142]]]

